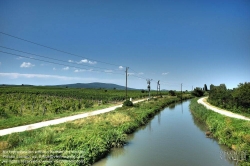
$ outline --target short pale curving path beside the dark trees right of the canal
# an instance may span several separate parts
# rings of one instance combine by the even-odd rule
[[[217,112],[219,114],[222,114],[222,115],[225,115],[225,116],[228,116],[228,117],[232,117],[232,118],[236,118],[236,119],[242,119],[242,120],[250,121],[250,118],[247,118],[245,116],[242,116],[242,115],[239,115],[239,114],[236,114],[236,113],[233,113],[233,112],[230,112],[230,111],[227,111],[227,110],[224,110],[224,109],[221,109],[221,108],[218,108],[218,107],[215,107],[215,106],[209,104],[207,102],[207,97],[200,98],[197,102],[199,104],[204,105],[207,109],[210,109],[210,110],[212,110],[214,112]]]

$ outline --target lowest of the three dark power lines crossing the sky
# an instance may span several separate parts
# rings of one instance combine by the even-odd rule
[[[51,62],[51,61],[37,59],[37,58],[33,58],[33,57],[27,57],[27,56],[23,56],[23,55],[18,55],[18,54],[13,54],[13,53],[9,53],[9,52],[4,52],[4,51],[1,51],[1,50],[0,50],[0,52],[5,53],[5,54],[9,54],[9,55],[13,55],[13,56],[18,56],[18,57],[23,57],[23,58],[37,60],[37,61],[47,62],[47,63],[51,63],[51,64],[56,64],[56,65],[61,65],[61,66],[67,66],[67,67],[73,67],[75,69],[84,69],[84,70],[91,70],[91,71],[103,72],[103,73],[108,73],[108,74],[123,75],[122,73],[105,72],[105,71],[101,71],[101,70],[92,70],[92,69],[89,69],[89,68],[76,67],[76,66],[73,66],[73,65],[66,65],[66,64],[61,64],[61,63],[57,63],[57,62]]]

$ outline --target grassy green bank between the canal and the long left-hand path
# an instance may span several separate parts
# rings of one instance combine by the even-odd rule
[[[107,155],[113,147],[123,146],[126,134],[146,124],[165,106],[178,101],[180,99],[176,97],[152,99],[106,114],[3,136],[0,137],[0,155],[8,157],[12,155],[8,154],[10,151],[21,158],[29,152],[28,158],[20,160],[32,161],[33,157],[38,165],[46,161],[50,165],[91,165]]]

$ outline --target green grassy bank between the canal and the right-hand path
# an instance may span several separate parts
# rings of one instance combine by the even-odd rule
[[[236,152],[246,152],[246,161],[240,165],[250,165],[250,122],[230,118],[206,109],[192,99],[190,104],[192,114],[207,124],[213,136],[220,144],[227,145]]]

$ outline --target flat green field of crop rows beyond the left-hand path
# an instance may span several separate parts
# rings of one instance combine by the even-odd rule
[[[161,94],[167,95],[168,92]],[[155,91],[151,92],[151,96],[156,95]],[[146,97],[146,92],[128,91],[128,98]],[[43,86],[0,87],[0,129],[107,108],[121,104],[124,100],[125,90]]]

